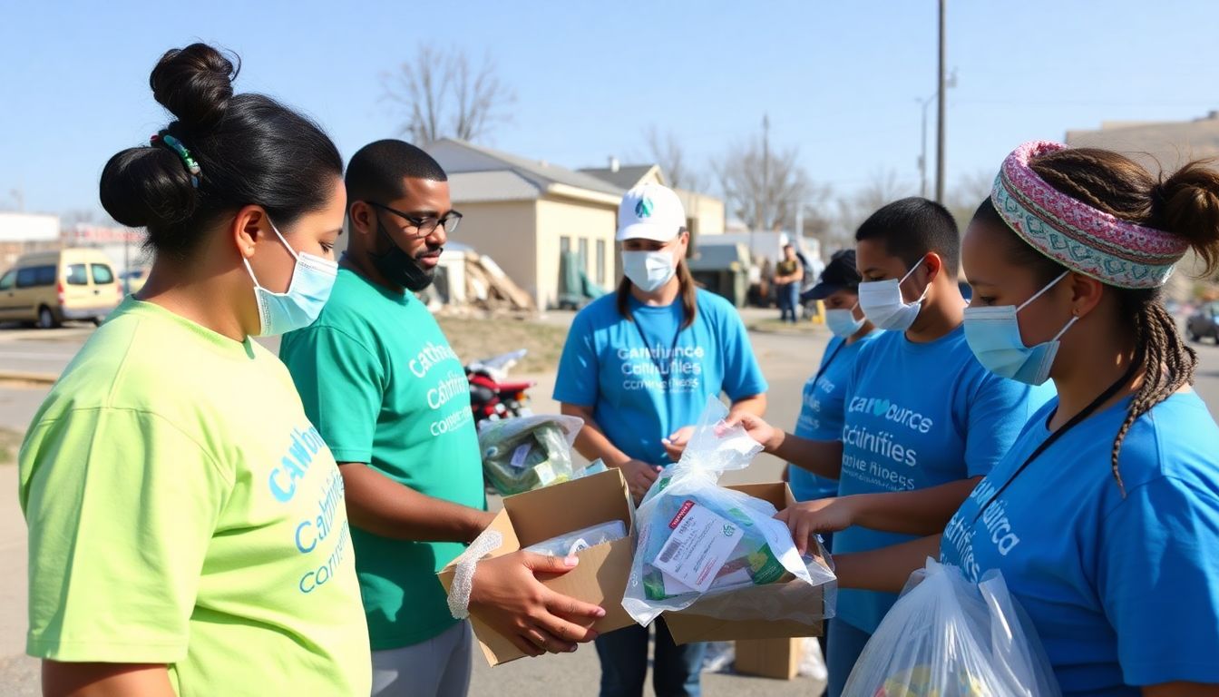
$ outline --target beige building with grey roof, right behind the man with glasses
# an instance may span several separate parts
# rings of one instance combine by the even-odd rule
[[[560,294],[560,255],[575,251],[589,280],[610,289],[623,189],[550,162],[462,140],[427,146],[449,175],[462,214],[453,242],[494,259],[539,308]]]

